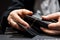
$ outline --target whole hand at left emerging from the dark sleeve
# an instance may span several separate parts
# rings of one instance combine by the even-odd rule
[[[22,24],[24,25],[26,28],[29,28],[29,24],[27,22],[25,22],[22,18],[24,18],[26,15],[32,15],[32,11],[29,11],[29,10],[26,10],[26,9],[18,9],[18,10],[13,10],[12,12],[10,12],[7,20],[8,20],[8,23],[13,27],[13,28],[16,28],[16,29],[19,29],[19,30],[23,30],[21,29],[18,24]]]

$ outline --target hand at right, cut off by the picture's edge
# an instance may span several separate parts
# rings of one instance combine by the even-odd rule
[[[48,25],[48,28],[43,28],[41,27],[40,29],[50,35],[59,35],[60,34],[60,12],[53,13],[47,16],[42,16],[43,19],[45,20],[52,20],[56,19],[58,20],[56,23],[51,23]]]

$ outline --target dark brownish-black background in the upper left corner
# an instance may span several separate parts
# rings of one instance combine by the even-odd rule
[[[0,0],[0,20],[2,14],[7,10],[8,6],[10,6],[11,0]]]

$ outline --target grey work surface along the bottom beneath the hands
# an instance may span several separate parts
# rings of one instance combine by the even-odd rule
[[[22,35],[0,35],[0,40],[60,40],[60,37],[37,35],[33,38],[23,37]]]

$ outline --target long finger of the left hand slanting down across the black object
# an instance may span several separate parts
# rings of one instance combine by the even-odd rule
[[[16,13],[14,15],[12,15],[12,19],[14,19],[14,21],[21,23],[22,25],[24,25],[26,28],[29,28],[29,24],[27,22],[25,22],[21,17],[19,17],[19,15],[17,15]]]

